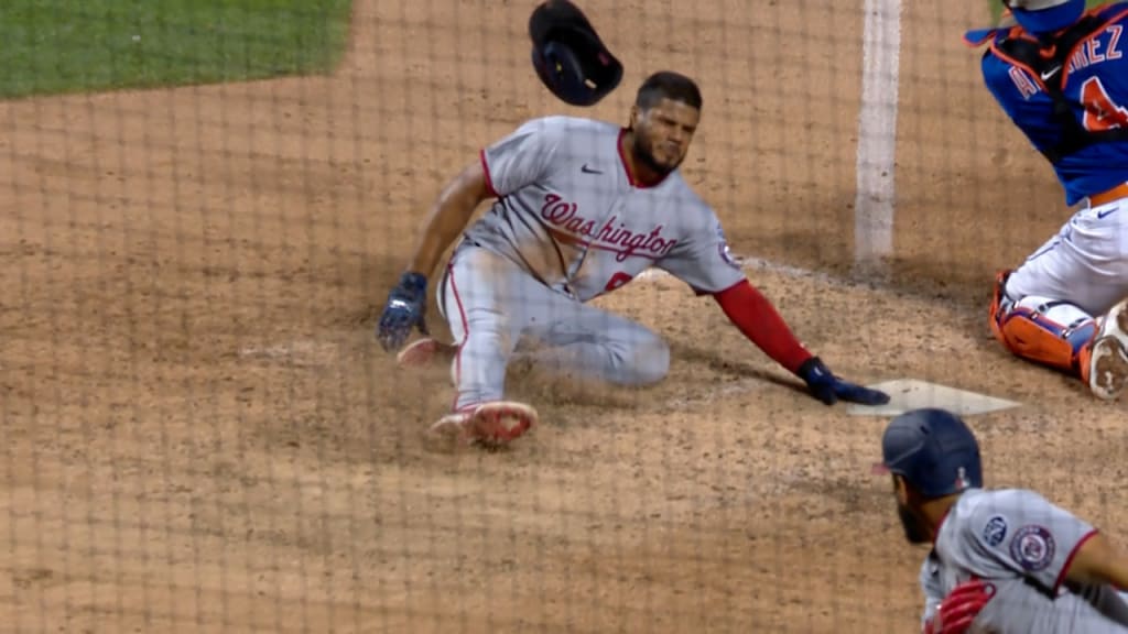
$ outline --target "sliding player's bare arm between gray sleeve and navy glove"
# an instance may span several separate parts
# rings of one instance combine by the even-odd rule
[[[488,196],[485,171],[475,161],[448,183],[431,205],[423,237],[407,270],[430,276],[447,247],[466,229],[474,210]]]

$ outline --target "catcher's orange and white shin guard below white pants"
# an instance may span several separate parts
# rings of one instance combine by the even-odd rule
[[[1006,274],[995,283],[990,329],[1013,354],[1089,381],[1090,354],[1096,337],[1093,316],[1066,301],[1024,297],[1013,301],[1003,292]]]

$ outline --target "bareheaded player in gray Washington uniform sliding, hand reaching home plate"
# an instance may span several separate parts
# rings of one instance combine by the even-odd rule
[[[666,342],[587,303],[651,266],[713,297],[823,403],[888,402],[885,394],[835,377],[808,352],[729,255],[713,210],[678,171],[700,107],[693,80],[659,72],[638,88],[628,127],[567,116],[531,120],[484,149],[443,190],[377,333],[389,351],[400,349],[415,326],[426,334],[431,272],[475,208],[497,199],[465,230],[438,284],[440,312],[457,346],[423,338],[399,355],[404,364],[453,356],[458,396],[433,432],[500,444],[528,430],[536,410],[503,400],[514,353],[580,379],[660,381],[669,367]]]

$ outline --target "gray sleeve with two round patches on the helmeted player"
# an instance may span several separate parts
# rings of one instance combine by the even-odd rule
[[[1025,490],[1001,492],[980,504],[969,528],[972,553],[1055,592],[1077,548],[1096,532],[1089,522]]]

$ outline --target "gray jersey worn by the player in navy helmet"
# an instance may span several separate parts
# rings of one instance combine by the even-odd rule
[[[1095,534],[1032,491],[967,491],[941,523],[920,569],[923,620],[955,585],[976,576],[992,582],[996,593],[971,633],[1128,633],[1128,604],[1113,588],[1065,583],[1074,553]]]

